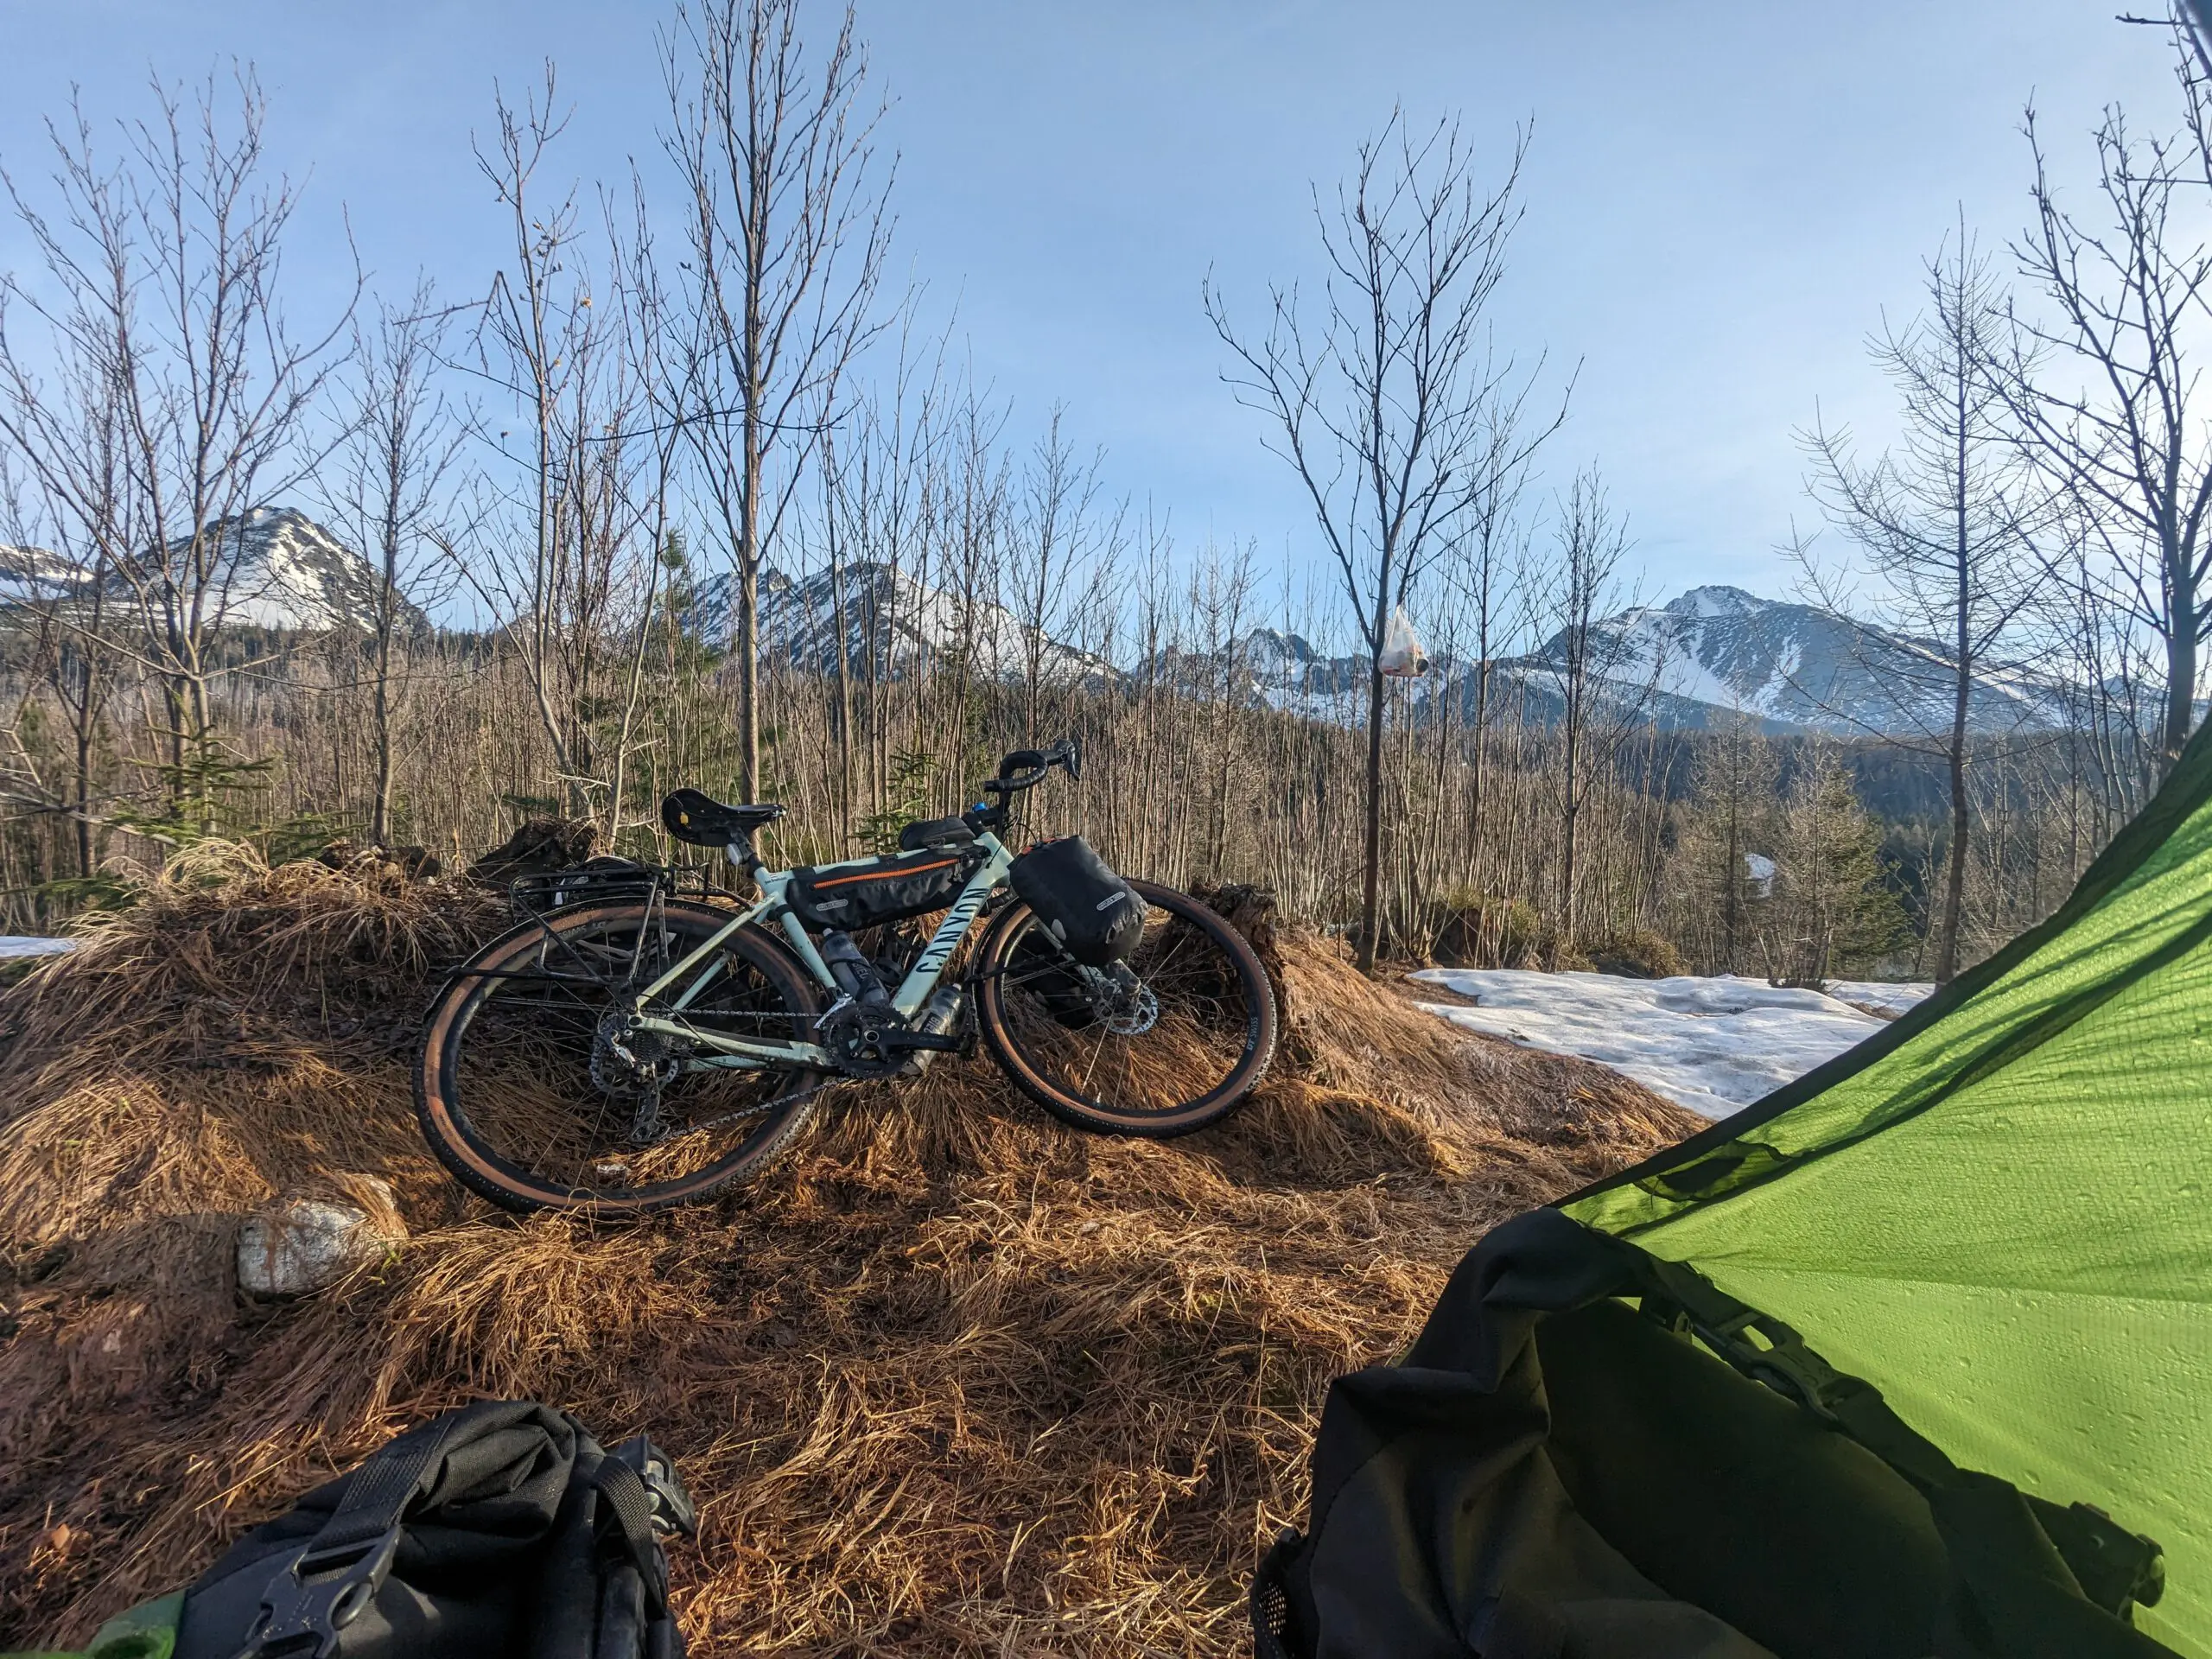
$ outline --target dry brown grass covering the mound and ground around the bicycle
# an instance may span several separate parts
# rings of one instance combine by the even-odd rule
[[[0,993],[0,1648],[186,1582],[411,1420],[529,1396],[677,1453],[695,1652],[1241,1650],[1327,1380],[1495,1219],[1690,1124],[1241,909],[1287,1042],[1217,1130],[1082,1137],[956,1062],[832,1097],[757,1192],[593,1230],[491,1214],[416,1139],[411,1020],[493,898],[179,872]],[[358,1175],[414,1241],[241,1303],[237,1221]]]

